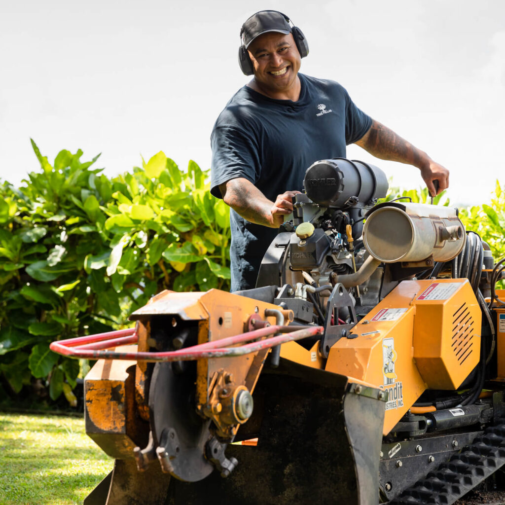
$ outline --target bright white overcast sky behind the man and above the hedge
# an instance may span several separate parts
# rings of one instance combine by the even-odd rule
[[[243,21],[285,12],[305,33],[301,71],[334,79],[373,118],[451,172],[452,203],[489,201],[505,182],[505,2],[310,3],[26,0],[0,4],[0,177],[19,183],[61,149],[102,153],[109,175],[163,150],[210,166],[219,112],[248,80],[237,64]],[[374,160],[393,184],[417,169]]]

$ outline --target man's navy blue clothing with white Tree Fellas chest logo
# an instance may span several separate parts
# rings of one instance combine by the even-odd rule
[[[372,119],[337,82],[298,74],[297,102],[276,100],[243,86],[219,115],[211,135],[211,193],[236,177],[252,182],[275,201],[303,189],[316,161],[345,158],[345,146],[368,131]],[[250,223],[230,212],[231,291],[255,287],[261,260],[277,229]]]

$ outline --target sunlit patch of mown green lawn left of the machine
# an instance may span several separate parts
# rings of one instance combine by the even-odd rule
[[[0,505],[82,504],[113,463],[83,419],[0,413]]]

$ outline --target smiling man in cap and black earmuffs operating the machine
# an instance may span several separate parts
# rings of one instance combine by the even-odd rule
[[[277,11],[242,25],[239,64],[251,81],[231,98],[211,135],[211,192],[231,207],[231,291],[255,287],[261,260],[315,161],[345,158],[356,143],[383,160],[420,169],[430,194],[449,172],[363,113],[333,81],[298,73],[309,52],[299,28]]]

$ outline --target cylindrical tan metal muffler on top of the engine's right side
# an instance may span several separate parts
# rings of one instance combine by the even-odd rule
[[[449,261],[465,245],[457,209],[425,204],[384,203],[367,213],[363,242],[384,263]]]

